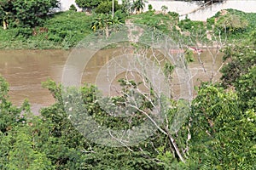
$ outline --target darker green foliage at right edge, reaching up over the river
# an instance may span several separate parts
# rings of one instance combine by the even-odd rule
[[[256,44],[254,32],[246,42],[224,49],[224,60],[229,61],[222,69],[224,87],[235,87],[244,108],[255,108],[256,96]]]

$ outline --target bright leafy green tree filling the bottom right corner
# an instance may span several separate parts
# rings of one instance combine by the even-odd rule
[[[254,169],[255,111],[242,111],[236,93],[204,84],[191,112],[190,169]]]

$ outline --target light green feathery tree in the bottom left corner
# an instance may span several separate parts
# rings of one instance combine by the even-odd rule
[[[25,101],[20,108],[15,107],[8,92],[8,83],[0,77],[0,168],[52,169],[44,151],[35,150],[34,134],[38,130],[31,131],[27,124],[27,117],[32,116],[30,105]]]

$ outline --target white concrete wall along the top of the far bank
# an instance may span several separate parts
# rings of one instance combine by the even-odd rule
[[[132,0],[131,0],[132,2]],[[119,0],[121,3],[121,0]],[[148,10],[148,4],[151,4],[155,10],[161,10],[165,5],[168,11],[176,12],[180,19],[185,19],[186,15],[190,20],[206,21],[221,9],[234,8],[247,13],[256,13],[256,0],[224,0],[223,3],[214,3],[211,6],[201,7],[203,1],[183,2],[174,0],[148,0],[144,11]],[[68,10],[75,0],[61,0],[61,10]],[[78,8],[81,11],[81,8]]]

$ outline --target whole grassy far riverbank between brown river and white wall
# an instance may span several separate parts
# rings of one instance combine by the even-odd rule
[[[0,49],[73,48],[84,37],[93,33],[91,26],[96,17],[97,15],[67,11],[50,16],[43,26],[33,29],[1,28]],[[256,29],[255,13],[233,9],[218,12],[207,22],[179,20],[176,13],[153,10],[128,17],[121,16],[119,24],[122,24],[121,20],[127,19],[163,31],[174,41],[196,48],[215,47],[218,42],[224,45],[242,41]]]

